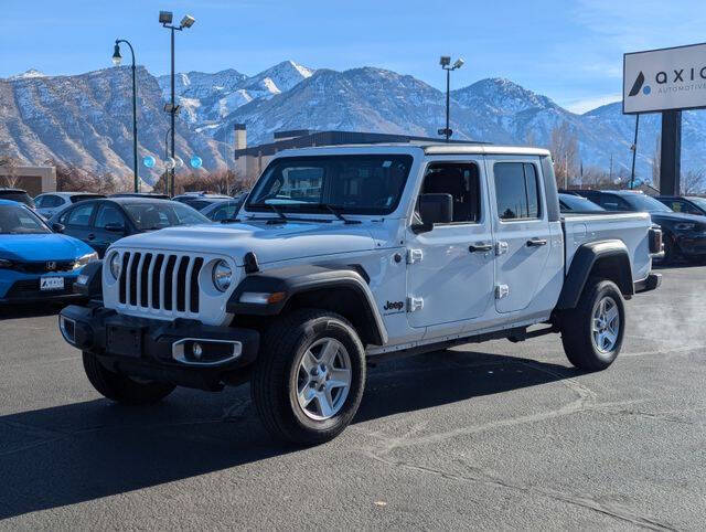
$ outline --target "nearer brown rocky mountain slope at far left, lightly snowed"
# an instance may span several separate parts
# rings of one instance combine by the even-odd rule
[[[169,128],[157,79],[138,68],[140,159],[164,153]],[[128,175],[132,166],[131,75],[127,66],[76,76],[22,75],[0,79],[0,155],[25,163],[46,160],[76,164],[93,173]],[[179,120],[176,151],[199,153],[207,168],[225,168],[227,149]],[[141,167],[148,181],[161,170]]]

